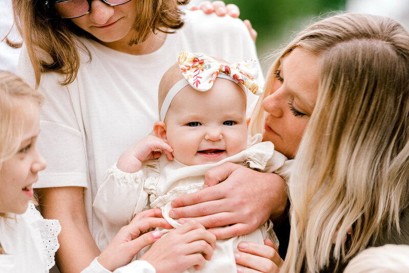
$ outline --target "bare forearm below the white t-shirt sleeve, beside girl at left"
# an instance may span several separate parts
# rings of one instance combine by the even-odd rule
[[[85,216],[82,187],[55,187],[37,189],[41,214],[47,219],[58,219],[61,233],[56,264],[61,273],[80,272],[100,254]]]

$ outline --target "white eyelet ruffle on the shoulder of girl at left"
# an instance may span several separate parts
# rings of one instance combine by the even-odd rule
[[[55,265],[55,253],[60,246],[57,236],[61,232],[61,225],[58,220],[42,218],[32,202],[29,203],[26,219],[33,226],[37,241],[40,242],[44,264],[50,270]]]

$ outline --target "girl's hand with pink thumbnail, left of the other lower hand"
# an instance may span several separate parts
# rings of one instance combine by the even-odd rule
[[[137,255],[143,247],[155,242],[162,236],[160,231],[152,231],[143,235],[141,235],[141,232],[158,226],[165,227],[165,229],[172,228],[172,226],[162,218],[160,209],[152,209],[138,213],[132,221],[128,225],[123,226],[112,239],[99,255],[98,262],[110,271],[130,263],[133,257]]]

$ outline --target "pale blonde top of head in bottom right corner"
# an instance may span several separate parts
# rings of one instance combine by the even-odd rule
[[[370,247],[354,257],[344,273],[409,272],[409,245],[387,244]]]

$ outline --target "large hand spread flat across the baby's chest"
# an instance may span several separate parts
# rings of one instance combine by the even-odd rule
[[[229,225],[209,230],[218,239],[251,233],[270,216],[275,222],[284,215],[286,184],[277,174],[224,163],[206,173],[205,187],[174,199],[169,215],[193,218],[206,227]]]

